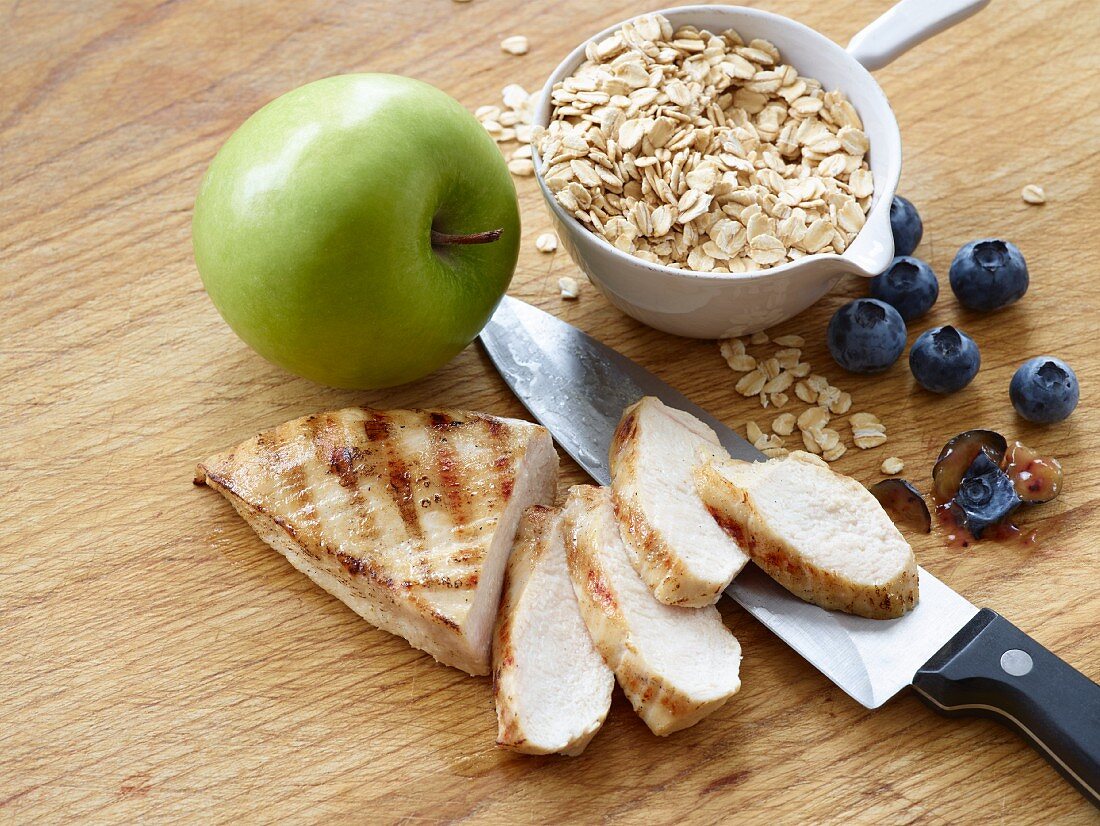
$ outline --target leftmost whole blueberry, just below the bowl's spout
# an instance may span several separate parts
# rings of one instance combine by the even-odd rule
[[[828,351],[853,373],[881,373],[905,349],[905,322],[898,310],[873,298],[857,298],[828,322]]]

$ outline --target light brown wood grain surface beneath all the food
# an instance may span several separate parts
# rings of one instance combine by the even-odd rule
[[[846,42],[875,2],[761,1]],[[383,70],[470,108],[537,88],[584,33],[644,7],[614,2],[0,2],[0,822],[1088,823],[1096,811],[1015,736],[946,720],[906,692],[868,712],[739,607],[740,695],[702,725],[652,737],[616,697],[582,758],[494,747],[485,680],[435,664],[358,619],[267,549],[196,460],[261,428],[353,404],[522,409],[475,348],[416,384],[348,393],[249,351],[202,291],[190,252],[199,178],[221,142],[279,93]],[[530,53],[498,42],[527,34]],[[939,274],[933,313],[982,349],[949,398],[904,362],[843,374],[825,322],[844,284],[783,324],[805,357],[878,412],[890,441],[837,466],[864,481],[899,455],[926,486],[935,452],[970,427],[1058,455],[1064,495],[1027,515],[1034,547],[915,540],[933,573],[1100,678],[1100,7],[998,0],[879,73],[901,122],[901,192]],[[1025,206],[1036,183],[1048,202]],[[513,294],[592,331],[732,425],[766,421],[713,342],[623,317],[563,253],[518,181],[524,251]],[[961,311],[958,246],[1001,235],[1032,289],[1009,310]],[[1074,417],[1015,417],[1025,357],[1069,361]],[[568,460],[562,485],[583,480]]]

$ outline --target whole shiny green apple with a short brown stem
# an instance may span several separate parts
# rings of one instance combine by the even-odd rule
[[[246,120],[195,201],[229,326],[321,384],[387,387],[465,348],[512,279],[516,189],[458,101],[394,75],[302,86]]]

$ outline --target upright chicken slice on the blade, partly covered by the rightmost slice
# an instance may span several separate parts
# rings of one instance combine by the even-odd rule
[[[700,454],[728,459],[715,432],[647,396],[628,407],[610,449],[612,491],[638,573],[669,605],[713,605],[748,562],[695,487]]]

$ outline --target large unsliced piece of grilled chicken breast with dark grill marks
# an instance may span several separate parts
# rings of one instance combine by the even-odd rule
[[[553,500],[557,476],[537,425],[349,408],[210,456],[196,482],[369,623],[487,674],[516,527],[526,507]]]

